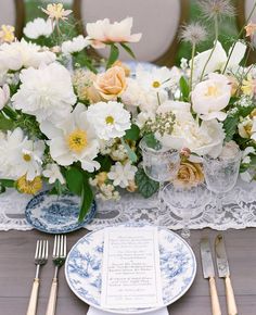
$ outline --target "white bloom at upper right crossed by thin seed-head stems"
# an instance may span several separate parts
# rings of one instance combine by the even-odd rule
[[[217,41],[215,51],[209,62],[207,63],[204,74],[207,75],[215,71],[222,71],[231,53],[231,49],[229,50],[229,54],[227,55],[222,45],[219,41]],[[246,45],[242,43],[241,41],[236,41],[234,45],[233,52],[230,55],[227,70],[232,70],[233,67],[238,67],[238,65],[244,58],[245,51],[246,51]],[[203,68],[210,53],[212,53],[212,49],[203,51],[194,58],[194,76],[195,77],[199,78],[202,75]]]

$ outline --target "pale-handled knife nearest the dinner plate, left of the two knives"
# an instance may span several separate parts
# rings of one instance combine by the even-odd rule
[[[213,263],[212,252],[209,248],[209,241],[207,238],[203,238],[201,240],[201,257],[202,257],[204,278],[209,279],[212,313],[213,315],[221,315],[219,298],[218,298],[216,282],[215,282],[214,263]]]

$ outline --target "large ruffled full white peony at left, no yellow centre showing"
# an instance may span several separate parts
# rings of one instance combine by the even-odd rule
[[[59,63],[21,72],[22,85],[12,97],[16,110],[35,115],[40,123],[62,121],[76,102],[69,72]]]

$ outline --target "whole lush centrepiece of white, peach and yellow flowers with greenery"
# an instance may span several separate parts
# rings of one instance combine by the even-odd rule
[[[12,26],[2,25],[1,190],[34,194],[46,181],[52,193],[81,196],[80,219],[94,194],[118,199],[125,189],[148,198],[158,184],[141,167],[142,137],[152,148],[180,151],[175,185],[202,182],[201,156],[218,158],[238,146],[241,176],[255,179],[256,70],[246,66],[244,55],[256,25],[248,21],[246,38],[238,38],[227,53],[218,22],[233,13],[230,1],[200,5],[214,21],[214,47],[197,53],[206,30],[199,23],[184,26],[181,39],[191,43],[190,61],[172,68],[138,65],[132,75],[118,61],[119,48],[133,56],[128,45],[141,38],[131,34],[131,17],[88,23],[87,37],[68,37],[72,11],[59,3],[42,9],[48,20],[27,23],[21,41]],[[110,47],[104,67],[90,56],[90,47]]]

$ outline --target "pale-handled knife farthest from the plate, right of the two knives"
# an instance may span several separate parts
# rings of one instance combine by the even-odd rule
[[[225,278],[228,314],[238,315],[234,292],[230,280],[230,270],[225,249],[225,241],[221,235],[218,235],[215,239],[215,254],[219,277]]]

